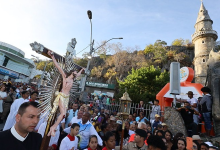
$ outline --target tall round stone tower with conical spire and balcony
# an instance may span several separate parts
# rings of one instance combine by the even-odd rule
[[[195,44],[195,82],[203,85],[205,85],[207,77],[209,53],[215,48],[218,38],[217,32],[212,29],[212,24],[213,21],[202,2],[194,26],[195,33],[192,35],[192,42]]]

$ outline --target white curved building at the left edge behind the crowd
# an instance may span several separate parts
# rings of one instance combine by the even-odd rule
[[[28,82],[40,73],[36,70],[34,62],[25,58],[22,50],[0,42],[0,79],[10,77],[12,81]]]

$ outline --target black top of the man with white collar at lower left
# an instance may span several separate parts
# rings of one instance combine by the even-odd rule
[[[10,129],[0,132],[1,150],[39,150],[41,141],[41,135],[35,132],[29,132],[24,141],[20,141],[14,137]]]

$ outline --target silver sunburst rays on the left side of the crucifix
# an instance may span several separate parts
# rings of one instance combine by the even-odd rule
[[[60,63],[60,66],[63,63],[62,60],[58,60],[58,63]],[[41,103],[39,104],[41,117],[44,117],[52,110],[53,107],[53,101],[55,100],[55,92],[59,91],[59,86],[61,84],[61,74],[59,73],[58,69],[56,67],[51,67],[48,71],[48,75],[46,76],[46,86],[39,89],[39,99]]]

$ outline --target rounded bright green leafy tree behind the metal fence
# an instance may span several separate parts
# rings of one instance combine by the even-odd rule
[[[161,72],[160,68],[142,67],[140,69],[132,69],[131,73],[124,79],[119,81],[121,97],[127,88],[127,92],[133,102],[150,101],[156,98],[156,94],[169,82],[169,73]]]

